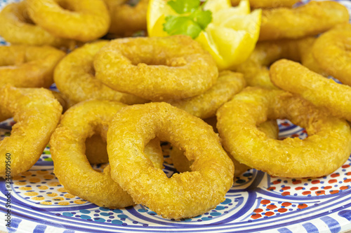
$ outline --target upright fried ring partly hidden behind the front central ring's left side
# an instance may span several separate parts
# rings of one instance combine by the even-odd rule
[[[100,132],[100,136],[106,138],[110,121],[124,106],[126,105],[117,101],[81,102],[65,112],[60,125],[51,136],[50,151],[55,176],[69,193],[98,206],[123,208],[134,204],[131,196],[112,181],[110,166],[103,172],[95,171],[84,154],[86,139],[95,132]],[[150,145],[154,149],[149,150],[156,153],[144,159],[150,167],[161,169],[163,155],[160,145]],[[145,155],[149,154],[145,151]]]

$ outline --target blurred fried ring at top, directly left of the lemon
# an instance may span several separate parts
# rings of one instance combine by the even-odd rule
[[[140,0],[135,6],[126,4],[127,0],[105,0],[105,2],[111,16],[110,33],[131,36],[136,31],[146,31],[149,0]]]

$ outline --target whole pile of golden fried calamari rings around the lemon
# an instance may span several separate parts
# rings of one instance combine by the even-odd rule
[[[218,71],[188,36],[123,37],[146,27],[147,1],[125,2],[25,0],[1,11],[11,45],[0,47],[0,118],[16,122],[0,142],[1,177],[30,169],[50,143],[55,176],[72,195],[180,219],[215,208],[247,169],[320,177],[350,156],[344,6],[251,0],[264,8],[256,49]],[[122,38],[100,39],[107,33]],[[307,138],[279,140],[277,119]],[[180,172],[170,178],[161,141]],[[91,167],[100,163],[109,164]]]

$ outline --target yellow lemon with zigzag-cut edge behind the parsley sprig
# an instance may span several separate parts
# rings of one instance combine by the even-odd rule
[[[149,36],[168,36],[163,29],[166,16],[178,15],[168,0],[150,0],[147,10]],[[211,10],[212,21],[195,38],[216,60],[218,69],[231,69],[244,62],[256,46],[262,11],[250,10],[249,0],[232,7],[229,0],[208,0],[204,10]]]

